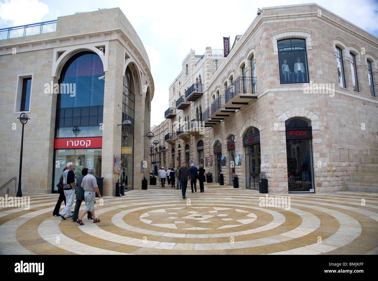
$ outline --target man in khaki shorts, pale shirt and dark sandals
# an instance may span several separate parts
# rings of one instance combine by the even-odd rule
[[[76,222],[80,225],[84,225],[82,218],[87,212],[92,213],[93,223],[100,222],[100,220],[95,216],[95,191],[98,194],[98,198],[101,198],[101,194],[97,186],[96,178],[93,176],[93,174],[95,174],[95,168],[89,168],[88,174],[83,178],[81,182],[81,187],[84,189],[85,210],[81,214],[80,218],[76,220]]]

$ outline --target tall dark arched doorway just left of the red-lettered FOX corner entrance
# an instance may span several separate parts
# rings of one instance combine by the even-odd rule
[[[260,131],[256,127],[250,127],[243,137],[245,149],[245,174],[246,188],[259,189],[260,179]]]

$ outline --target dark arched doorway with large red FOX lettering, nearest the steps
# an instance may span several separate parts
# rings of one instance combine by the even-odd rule
[[[285,127],[289,192],[315,192],[311,121],[294,117]]]

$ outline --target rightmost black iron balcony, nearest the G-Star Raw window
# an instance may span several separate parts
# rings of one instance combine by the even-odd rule
[[[240,109],[251,99],[257,99],[256,77],[238,77],[225,91],[225,104],[227,108]]]

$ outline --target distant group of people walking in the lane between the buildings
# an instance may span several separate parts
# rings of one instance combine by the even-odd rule
[[[186,167],[186,163],[183,163],[182,165],[182,167],[177,166],[176,170],[169,168],[167,171],[164,170],[164,167],[161,167],[161,169],[158,170],[158,177],[161,182],[161,186],[165,186],[165,181],[167,179],[168,184],[170,184],[171,187],[175,187],[175,178],[177,178],[177,189],[180,186],[183,199],[185,199],[187,182],[190,182],[192,193],[194,193],[197,192],[198,179],[198,182],[200,183],[200,192],[204,192],[203,183],[206,181],[206,174],[203,165],[200,165],[199,169],[197,169],[194,164],[191,164],[190,168]]]

